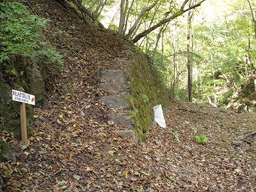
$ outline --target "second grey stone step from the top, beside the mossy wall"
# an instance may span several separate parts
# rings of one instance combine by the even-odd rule
[[[101,87],[102,89],[111,91],[111,93],[114,93],[119,96],[125,96],[127,93],[130,92],[130,84],[127,84],[127,83],[117,83],[117,82],[100,83],[99,87]]]

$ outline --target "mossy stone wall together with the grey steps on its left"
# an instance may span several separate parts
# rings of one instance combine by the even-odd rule
[[[109,119],[128,129],[119,133],[135,136],[140,142],[145,141],[154,121],[153,106],[161,104],[165,108],[169,102],[160,73],[143,53],[125,69],[102,70],[99,87],[111,93],[99,99],[116,109]]]

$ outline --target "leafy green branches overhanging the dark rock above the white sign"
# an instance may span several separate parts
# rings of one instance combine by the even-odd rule
[[[0,63],[11,56],[39,56],[46,64],[61,63],[56,50],[44,48],[42,30],[49,21],[30,14],[25,5],[18,2],[0,3]]]

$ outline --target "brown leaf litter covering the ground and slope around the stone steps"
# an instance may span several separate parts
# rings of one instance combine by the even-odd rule
[[[3,191],[255,190],[255,113],[171,99],[166,129],[152,126],[145,143],[120,136],[125,128],[108,120],[111,108],[98,100],[107,94],[98,75],[129,62],[133,47],[55,1],[29,3],[50,18],[45,34],[64,66],[49,72],[48,102],[35,109],[29,145],[5,135],[17,163],[0,164]]]

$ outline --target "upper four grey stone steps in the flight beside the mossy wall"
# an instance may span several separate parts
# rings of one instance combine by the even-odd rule
[[[99,87],[113,93],[99,99],[103,105],[117,109],[115,114],[109,114],[109,120],[116,124],[133,129],[133,117],[130,115],[130,105],[126,102],[126,95],[130,93],[129,75],[121,69],[104,69],[100,72]]]

